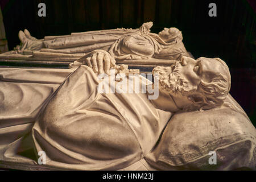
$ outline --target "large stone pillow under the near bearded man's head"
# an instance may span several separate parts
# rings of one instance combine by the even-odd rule
[[[145,159],[162,170],[255,169],[255,144],[255,127],[229,94],[220,108],[175,114]]]

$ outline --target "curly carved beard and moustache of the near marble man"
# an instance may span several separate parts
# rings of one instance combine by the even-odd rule
[[[156,73],[159,76],[160,89],[171,94],[181,93],[186,96],[188,92],[196,91],[197,86],[193,86],[189,81],[180,74],[181,64],[176,61],[171,67],[155,67],[152,71],[156,78]]]

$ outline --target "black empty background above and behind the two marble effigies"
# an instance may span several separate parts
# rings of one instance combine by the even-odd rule
[[[46,3],[46,17],[38,4]],[[208,15],[209,3],[217,17]],[[220,57],[232,76],[230,94],[256,126],[255,102],[255,5],[254,0],[0,0],[9,49],[20,43],[18,31],[32,36],[66,35],[71,32],[110,28],[138,28],[152,21],[151,32],[177,27],[185,47],[198,57]]]

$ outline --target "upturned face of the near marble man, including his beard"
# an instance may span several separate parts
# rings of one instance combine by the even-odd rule
[[[181,93],[187,96],[190,92],[196,92],[201,81],[211,82],[216,73],[226,74],[225,68],[216,59],[200,57],[195,60],[183,56],[170,67],[155,67],[152,71],[159,75],[160,90],[171,94]]]

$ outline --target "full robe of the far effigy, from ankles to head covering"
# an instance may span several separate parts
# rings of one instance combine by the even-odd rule
[[[157,59],[178,59],[180,55],[190,56],[182,42],[182,34],[166,43],[158,34],[144,34],[138,30],[114,30],[85,32],[70,36],[53,37],[43,41],[44,47],[33,51],[36,57],[81,57],[95,49],[107,51],[117,60],[137,60],[155,57]],[[144,46],[143,50],[133,48]]]

